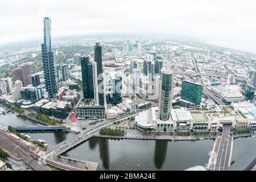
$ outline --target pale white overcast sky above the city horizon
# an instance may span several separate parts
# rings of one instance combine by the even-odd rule
[[[147,32],[207,38],[256,53],[255,0],[8,0],[0,5],[0,44],[52,36]]]

